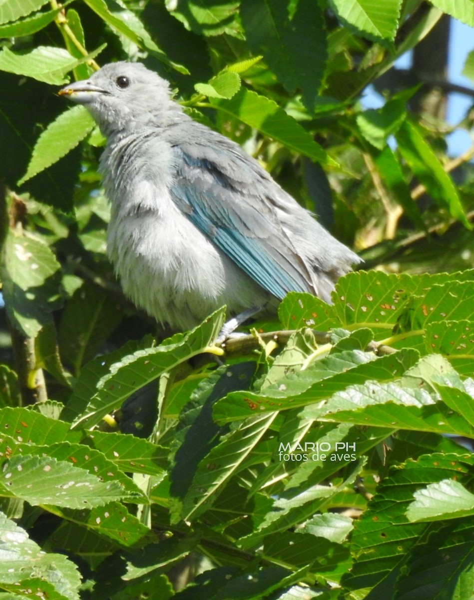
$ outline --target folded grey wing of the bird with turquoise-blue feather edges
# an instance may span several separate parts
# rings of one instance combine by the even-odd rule
[[[221,136],[218,141],[216,149],[204,140],[174,146],[174,202],[213,244],[277,298],[291,290],[315,293],[274,208],[275,194],[286,196],[285,192],[238,146],[223,144]]]

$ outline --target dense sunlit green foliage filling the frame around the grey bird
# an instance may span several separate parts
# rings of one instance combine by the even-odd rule
[[[472,598],[473,151],[393,67],[471,5],[0,1],[0,600]],[[105,257],[103,140],[53,93],[116,59],[377,269],[224,349],[223,308],[153,337]]]

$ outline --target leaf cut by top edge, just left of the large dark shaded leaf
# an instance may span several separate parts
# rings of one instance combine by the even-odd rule
[[[238,22],[238,2],[235,0],[165,0],[168,11],[186,29],[198,35],[236,35],[241,37]]]

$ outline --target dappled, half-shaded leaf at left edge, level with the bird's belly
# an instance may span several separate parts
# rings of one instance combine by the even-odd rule
[[[52,311],[62,304],[59,269],[47,244],[10,230],[2,264],[3,296],[11,323],[29,337],[50,323]]]

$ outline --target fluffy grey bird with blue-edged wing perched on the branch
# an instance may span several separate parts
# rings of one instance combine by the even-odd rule
[[[107,254],[125,295],[159,323],[188,331],[224,305],[229,318],[276,313],[291,291],[331,303],[361,262],[143,64],[106,64],[59,94],[106,139]]]

